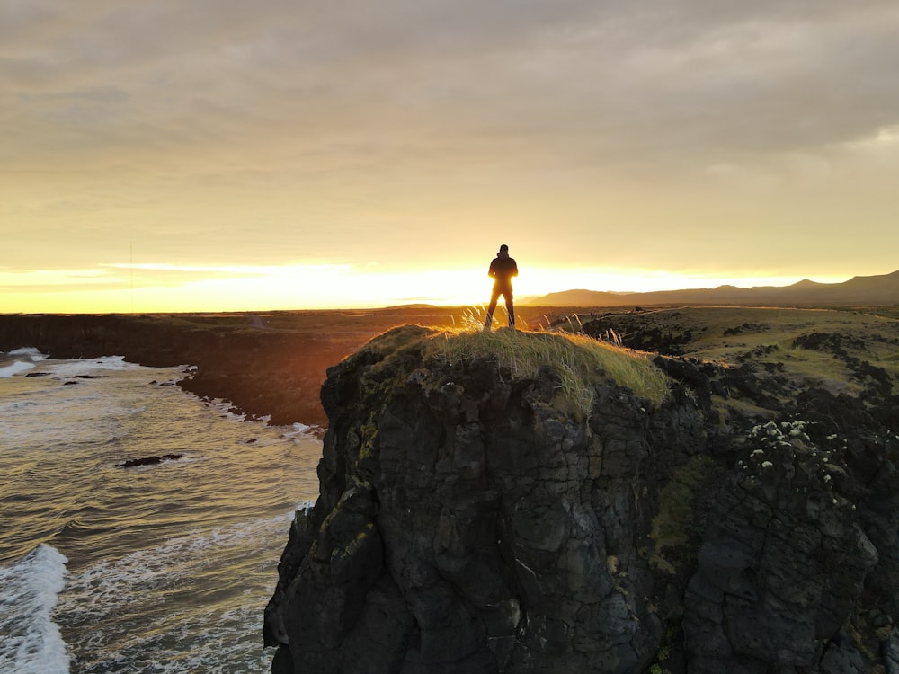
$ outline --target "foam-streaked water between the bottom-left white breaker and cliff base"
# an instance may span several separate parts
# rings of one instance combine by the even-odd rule
[[[58,614],[82,635],[73,643],[77,667],[141,674],[268,670],[271,655],[263,654],[255,625],[277,560],[264,551],[284,536],[291,516],[196,529],[73,571]]]

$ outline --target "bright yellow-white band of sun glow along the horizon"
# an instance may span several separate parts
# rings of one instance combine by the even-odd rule
[[[521,266],[515,297],[573,289],[651,292],[732,285],[787,286],[807,277],[727,277],[665,270]],[[816,276],[822,283],[849,277]],[[485,269],[380,270],[350,264],[283,266],[106,264],[88,270],[0,270],[0,313],[179,313],[376,308],[408,304],[479,306],[490,297]]]

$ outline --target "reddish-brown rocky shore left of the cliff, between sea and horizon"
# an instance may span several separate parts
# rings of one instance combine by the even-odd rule
[[[179,386],[194,395],[227,400],[236,412],[274,425],[324,428],[318,393],[327,368],[390,321],[373,319],[334,339],[311,318],[271,329],[244,315],[0,315],[0,351],[31,347],[58,359],[116,355],[152,367],[191,366]]]

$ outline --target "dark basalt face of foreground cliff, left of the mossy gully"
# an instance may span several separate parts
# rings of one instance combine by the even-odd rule
[[[653,661],[664,620],[653,503],[662,475],[701,446],[699,414],[647,412],[627,389],[599,386],[576,421],[543,375],[375,350],[329,371],[321,496],[294,523],[267,610],[267,643],[290,653],[279,670]]]

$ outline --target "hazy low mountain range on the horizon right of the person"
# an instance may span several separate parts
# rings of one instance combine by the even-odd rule
[[[791,286],[692,288],[645,293],[565,290],[522,298],[522,306],[752,305],[868,306],[899,305],[899,270],[880,276],[856,276],[842,283],[801,280]]]

